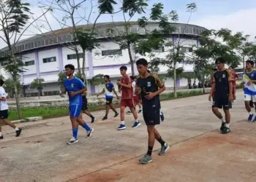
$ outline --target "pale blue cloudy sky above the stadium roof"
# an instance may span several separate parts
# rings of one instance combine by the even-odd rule
[[[31,11],[34,12],[34,17],[37,17],[42,14],[40,8],[38,8],[39,4],[37,4],[37,0],[28,0],[31,3]],[[41,0],[42,3],[46,3],[46,1],[52,0]],[[80,0],[75,0],[80,1]],[[97,3],[97,0],[93,0],[94,5]],[[121,0],[117,0],[118,2]],[[165,6],[165,13],[169,13],[171,10],[176,10],[179,15],[180,23],[187,23],[189,12],[186,12],[186,4],[195,2],[197,4],[197,11],[193,13],[192,18],[190,20],[191,24],[200,25],[209,29],[219,29],[219,28],[229,28],[230,30],[237,32],[242,31],[244,34],[250,34],[252,37],[256,36],[256,0],[148,0],[148,8],[146,9],[146,17],[150,13],[151,6],[155,3],[162,2]],[[41,4],[42,5],[42,4]],[[84,4],[86,9],[80,9],[79,15],[84,15],[88,17],[89,11],[91,9],[91,4],[89,1]],[[116,6],[116,10],[118,10],[118,6]],[[95,17],[97,17],[97,7],[94,7],[90,21],[94,21]],[[56,18],[59,20],[64,16],[63,12],[56,12]],[[143,15],[136,15],[132,18],[132,20],[138,20],[138,17]],[[52,17],[52,15],[48,14],[46,16],[50,23],[50,27],[52,29],[59,29],[61,26],[59,23]],[[79,18],[77,20],[80,20]],[[113,17],[115,21],[124,20],[124,17],[121,14],[116,14]],[[111,22],[112,17],[110,15],[104,15],[99,18],[98,22]],[[41,25],[42,22],[37,22],[37,25]],[[40,28],[40,31],[48,31],[50,30],[49,26],[46,23],[43,23],[45,28]],[[83,20],[80,24],[86,24]],[[39,33],[39,28],[35,28],[31,26],[29,31],[26,32],[27,38],[34,33]],[[5,47],[4,41],[0,41],[0,47]]]

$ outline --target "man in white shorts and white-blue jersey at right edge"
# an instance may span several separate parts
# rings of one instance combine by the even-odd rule
[[[255,120],[255,114],[252,113],[250,102],[252,101],[256,105],[256,71],[253,68],[254,62],[252,60],[246,61],[246,71],[243,76],[244,82],[244,105],[249,112],[248,121]]]

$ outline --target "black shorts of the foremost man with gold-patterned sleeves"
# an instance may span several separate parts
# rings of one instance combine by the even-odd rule
[[[160,108],[143,107],[143,118],[147,126],[160,124]]]

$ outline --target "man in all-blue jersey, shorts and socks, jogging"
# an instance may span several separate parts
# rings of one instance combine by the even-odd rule
[[[64,88],[62,93],[69,95],[69,116],[72,124],[72,138],[67,142],[68,145],[78,142],[78,124],[86,129],[87,137],[91,137],[93,128],[89,127],[86,122],[80,117],[83,106],[82,93],[86,91],[86,86],[83,82],[74,76],[75,66],[68,64],[65,66],[68,79],[64,80]]]

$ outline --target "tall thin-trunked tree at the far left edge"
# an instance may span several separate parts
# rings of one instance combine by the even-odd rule
[[[29,3],[23,3],[21,0],[0,1],[0,38],[7,44],[7,53],[4,55],[4,59],[9,60],[10,63],[6,70],[8,72],[9,70],[12,71],[11,75],[14,82],[18,82],[20,68],[24,66],[15,55],[17,52],[16,44],[34,21],[42,17],[42,15],[39,15],[37,19],[29,23],[32,14],[29,7]],[[21,119],[17,84],[15,84],[15,100],[18,118]]]

